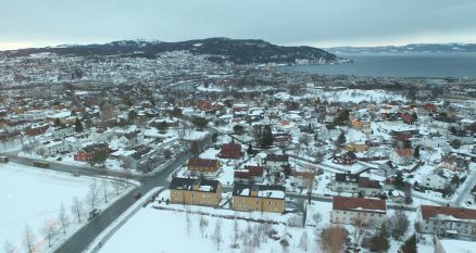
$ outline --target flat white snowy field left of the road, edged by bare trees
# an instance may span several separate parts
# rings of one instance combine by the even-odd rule
[[[38,248],[42,249],[39,252],[47,251],[48,241],[43,233],[46,220],[57,220],[63,203],[71,224],[66,235],[80,227],[85,217],[78,224],[72,215],[71,205],[74,197],[82,201],[85,199],[93,180],[13,163],[0,164],[0,243],[9,241],[17,249],[15,252],[23,252],[23,235],[28,226]],[[101,188],[101,180],[97,182],[98,189]],[[111,203],[116,194],[112,193],[110,180],[107,182],[104,186],[109,188]],[[98,206],[105,207],[104,202],[98,202]],[[86,205],[84,208],[88,210]],[[54,242],[58,240],[61,238],[58,237]]]

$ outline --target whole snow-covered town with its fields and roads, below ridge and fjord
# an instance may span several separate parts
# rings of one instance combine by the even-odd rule
[[[3,89],[7,252],[476,245],[474,89],[206,66],[180,80]]]

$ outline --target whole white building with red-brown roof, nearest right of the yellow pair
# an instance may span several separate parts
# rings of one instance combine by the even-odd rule
[[[333,198],[330,222],[354,226],[379,226],[387,220],[385,200],[364,198]]]

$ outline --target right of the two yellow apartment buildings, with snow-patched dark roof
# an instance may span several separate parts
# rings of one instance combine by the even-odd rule
[[[286,188],[236,182],[233,188],[233,208],[238,211],[285,212]]]

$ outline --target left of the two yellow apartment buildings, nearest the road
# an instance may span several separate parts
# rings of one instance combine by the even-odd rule
[[[172,178],[171,203],[216,206],[222,201],[222,184],[204,178]]]

